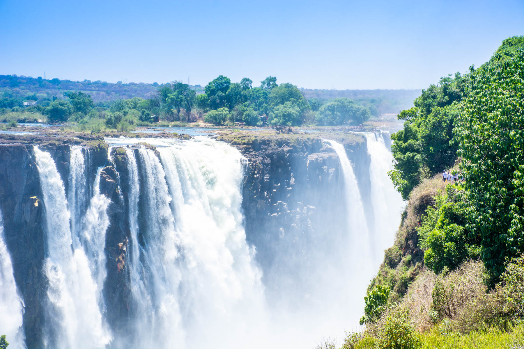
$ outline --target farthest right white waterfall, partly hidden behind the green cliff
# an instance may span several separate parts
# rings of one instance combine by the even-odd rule
[[[389,136],[389,133],[387,133]],[[373,232],[374,270],[383,261],[384,250],[395,240],[395,232],[400,224],[400,214],[405,206],[400,193],[395,190],[388,176],[393,169],[393,155],[387,149],[382,132],[366,133],[367,151],[371,157],[369,175],[371,177],[371,196],[375,213]]]

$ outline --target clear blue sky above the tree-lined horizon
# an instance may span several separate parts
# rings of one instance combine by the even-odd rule
[[[0,0],[0,74],[423,88],[524,34],[524,0]]]

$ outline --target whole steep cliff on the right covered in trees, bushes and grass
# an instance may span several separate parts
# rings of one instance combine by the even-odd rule
[[[399,114],[390,176],[409,202],[368,287],[365,332],[344,348],[524,344],[522,44],[505,40]],[[465,181],[444,183],[442,170]]]

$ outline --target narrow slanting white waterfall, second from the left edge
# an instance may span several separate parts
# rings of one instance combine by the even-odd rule
[[[90,266],[92,256],[88,257],[81,245],[73,244],[73,240],[81,242],[78,235],[73,236],[64,185],[51,155],[38,147],[34,153],[47,228],[44,268],[49,280],[49,304],[45,346],[102,348],[111,337],[100,310],[100,290]]]

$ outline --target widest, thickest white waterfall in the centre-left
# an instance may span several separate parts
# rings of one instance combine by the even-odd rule
[[[159,156],[126,148],[134,344],[236,346],[265,323],[242,227],[243,158],[215,141],[163,145]]]

